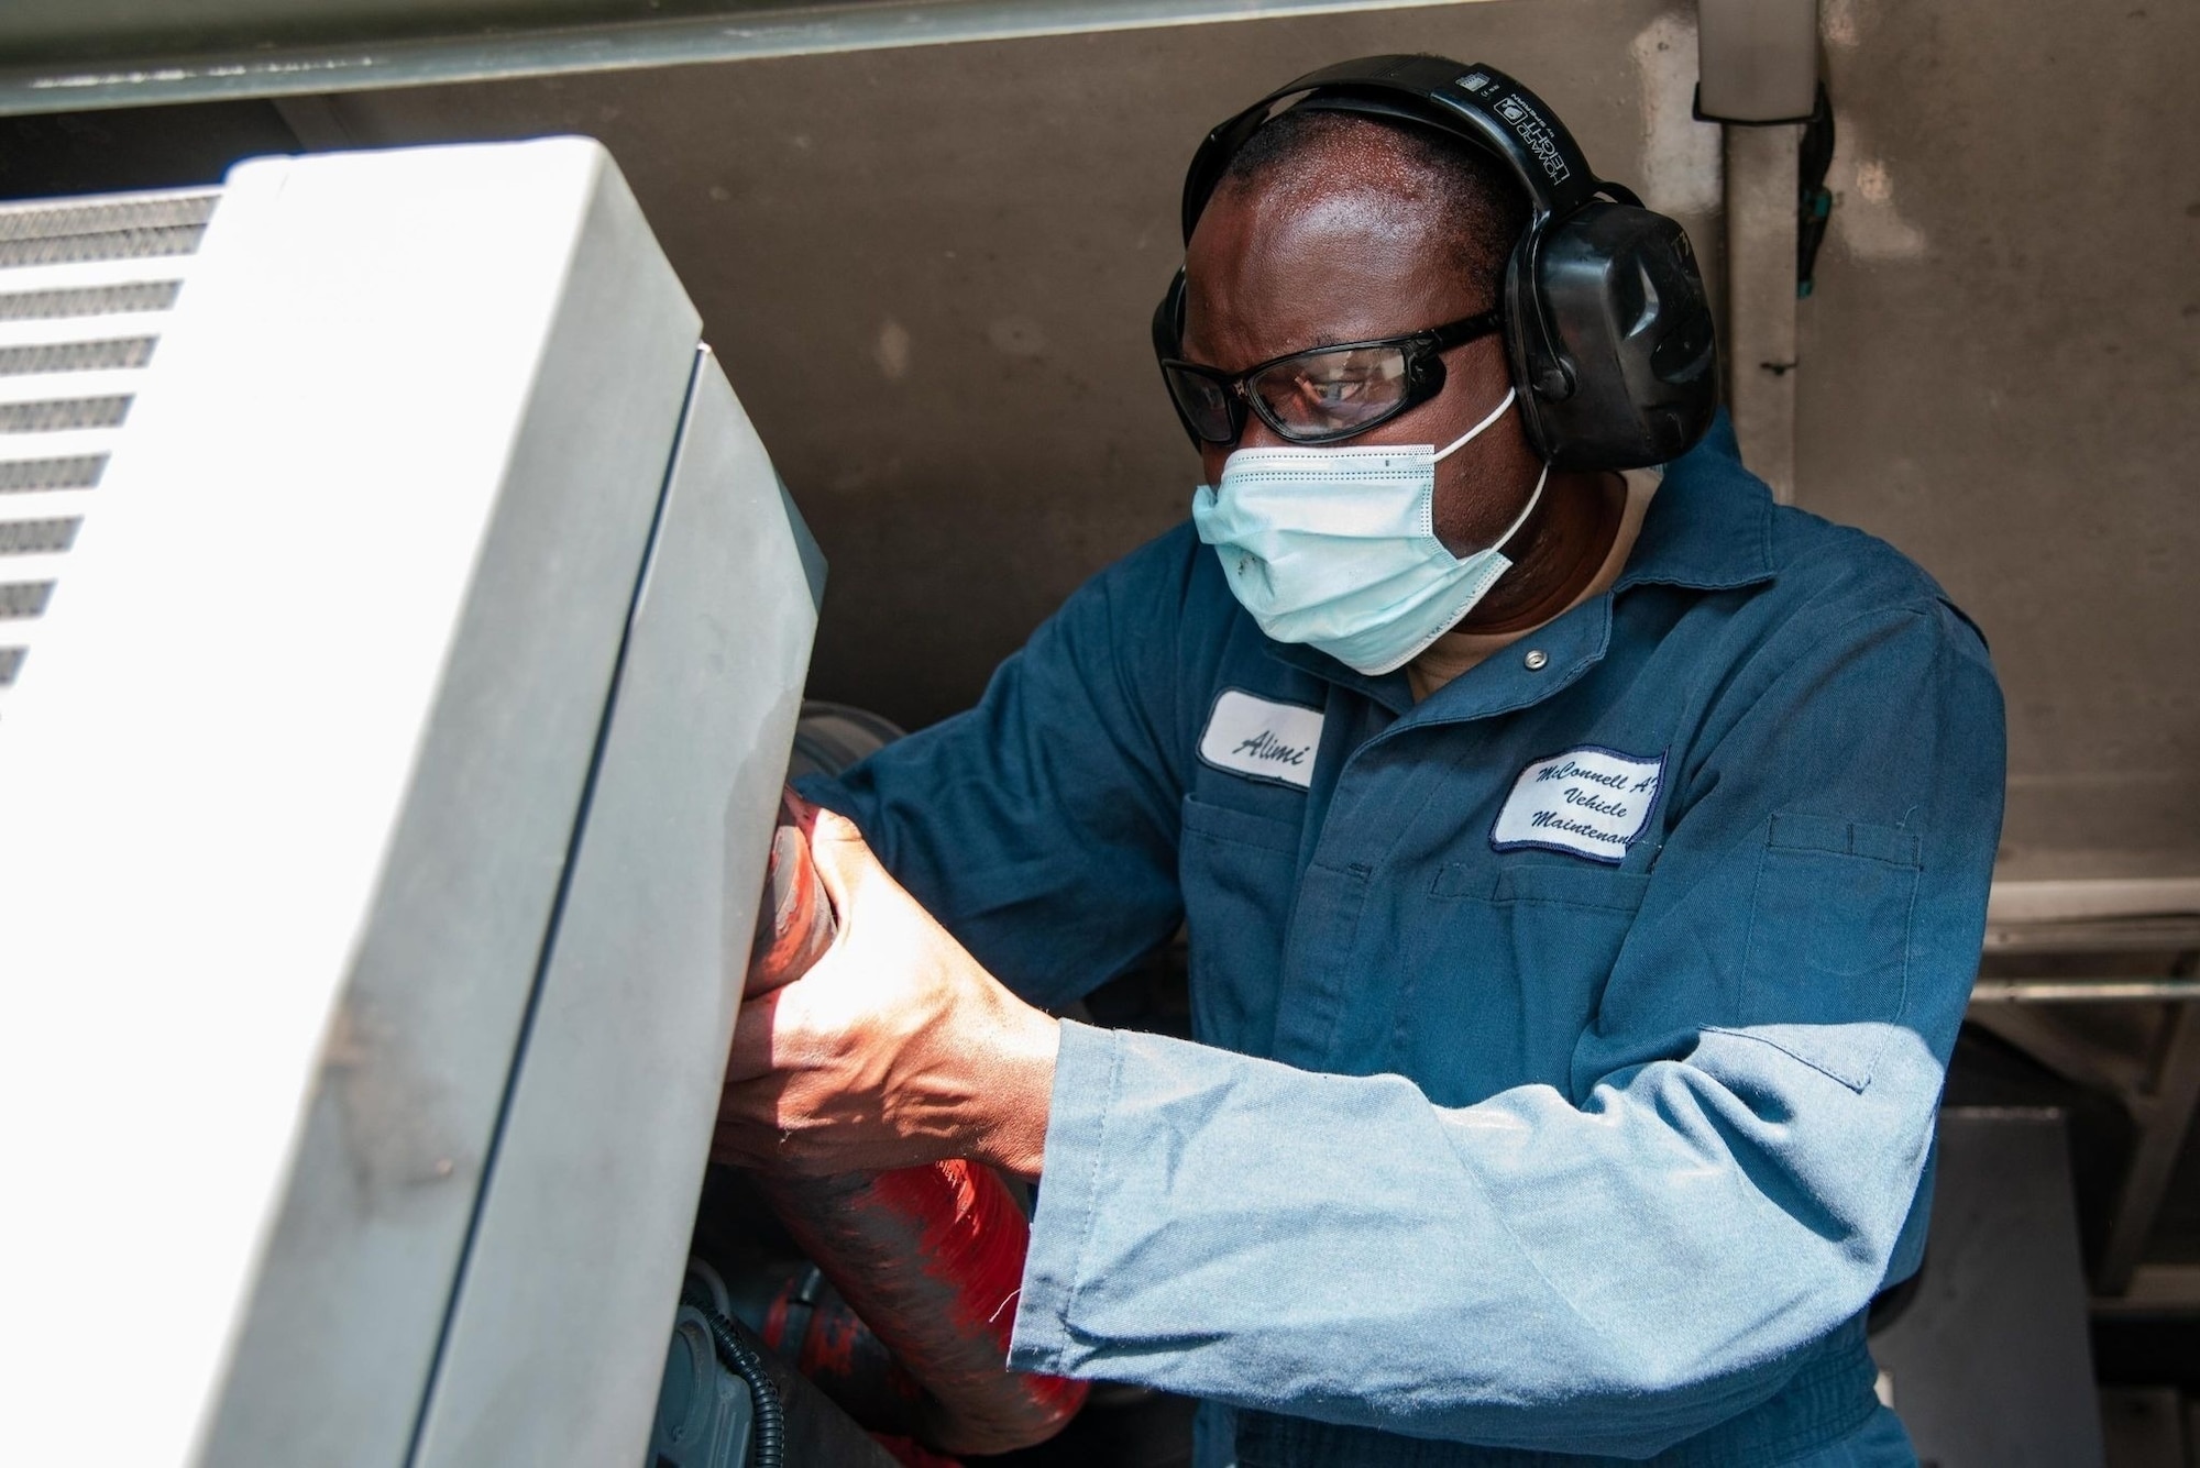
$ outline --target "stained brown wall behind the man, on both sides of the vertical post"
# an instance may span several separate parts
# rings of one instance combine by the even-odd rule
[[[1716,273],[1692,15],[1485,0],[279,105],[317,147],[605,138],[834,560],[814,692],[926,723],[1184,514],[1146,316],[1208,125],[1344,55],[1489,59]],[[1839,204],[1800,308],[1797,499],[1987,629],[2006,875],[2200,872],[2200,7],[1822,20]]]

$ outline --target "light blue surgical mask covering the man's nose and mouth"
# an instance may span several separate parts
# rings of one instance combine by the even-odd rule
[[[1263,633],[1360,672],[1404,668],[1511,569],[1498,545],[1542,499],[1549,464],[1496,545],[1461,558],[1437,538],[1437,464],[1511,404],[1507,391],[1441,453],[1434,444],[1239,448],[1221,483],[1192,494],[1192,525]]]

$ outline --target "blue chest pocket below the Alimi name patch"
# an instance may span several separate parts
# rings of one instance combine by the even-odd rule
[[[1265,1055],[1276,1033],[1298,824],[1184,798],[1177,872],[1190,941],[1192,1035]]]

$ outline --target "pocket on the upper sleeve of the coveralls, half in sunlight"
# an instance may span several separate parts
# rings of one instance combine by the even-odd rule
[[[1870,1086],[1910,998],[1921,866],[1914,831],[1773,815],[1749,903],[1742,1026],[1850,1090]]]

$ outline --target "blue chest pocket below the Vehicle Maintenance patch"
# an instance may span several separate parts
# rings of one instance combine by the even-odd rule
[[[1439,866],[1410,930],[1399,1068],[1439,1105],[1538,1083],[1573,1094],[1573,1055],[1648,886],[1580,861]]]

